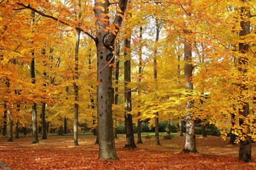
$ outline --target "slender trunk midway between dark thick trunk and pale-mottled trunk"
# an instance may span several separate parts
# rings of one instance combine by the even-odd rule
[[[159,41],[159,33],[160,33],[160,23],[159,20],[156,19],[156,42]],[[156,81],[156,89],[157,89],[157,61],[156,61],[157,49],[155,50],[154,55],[154,80]],[[159,113],[156,112],[155,115],[155,137],[156,137],[156,145],[160,145],[159,139]]]

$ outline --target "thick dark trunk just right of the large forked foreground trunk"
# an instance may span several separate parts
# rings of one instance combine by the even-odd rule
[[[126,131],[126,144],[124,147],[136,147],[134,142],[134,132],[132,128],[132,115],[129,113],[132,111],[132,91],[128,87],[131,82],[131,53],[127,50],[131,47],[131,35],[124,40],[124,125]]]

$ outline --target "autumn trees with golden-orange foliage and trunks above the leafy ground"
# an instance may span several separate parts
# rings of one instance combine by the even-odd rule
[[[196,126],[212,127],[239,143],[239,159],[251,162],[255,6],[245,0],[1,0],[2,135],[13,141],[13,131],[17,138],[32,132],[38,143],[38,132],[43,139],[73,132],[78,145],[78,132],[90,131],[99,158],[118,159],[117,130],[126,132],[125,147],[135,148],[134,132],[141,143],[141,127],[153,128],[160,145],[166,123],[168,133],[186,131],[183,152],[197,152]]]

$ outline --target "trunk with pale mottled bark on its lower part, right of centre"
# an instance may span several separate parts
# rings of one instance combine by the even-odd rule
[[[184,30],[186,34],[189,34],[189,31]],[[184,72],[185,72],[185,89],[188,90],[188,92],[193,91],[193,84],[191,82],[191,77],[193,73],[193,66],[191,64],[191,57],[192,57],[192,51],[191,51],[191,42],[186,41],[184,44]],[[193,106],[193,101],[187,101],[186,102],[186,143],[185,147],[183,148],[183,152],[197,152],[196,150],[196,124],[195,120],[193,120],[190,109]]]

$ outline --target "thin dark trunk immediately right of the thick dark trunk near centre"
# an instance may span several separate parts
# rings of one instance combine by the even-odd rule
[[[142,30],[143,28],[140,27],[139,28],[139,38],[140,40],[142,41]],[[138,79],[139,82],[142,81],[142,42],[140,42],[139,44],[139,79]],[[142,91],[141,91],[141,87],[140,87],[140,84],[139,84],[139,87],[138,87],[138,97],[140,98],[142,95]],[[139,99],[139,103],[140,103],[140,99]],[[140,106],[139,106],[140,107]],[[137,120],[137,135],[138,135],[138,141],[137,143],[142,143],[142,130],[141,130],[141,120],[140,120],[140,115],[141,113],[139,112],[138,113],[138,120]]]

